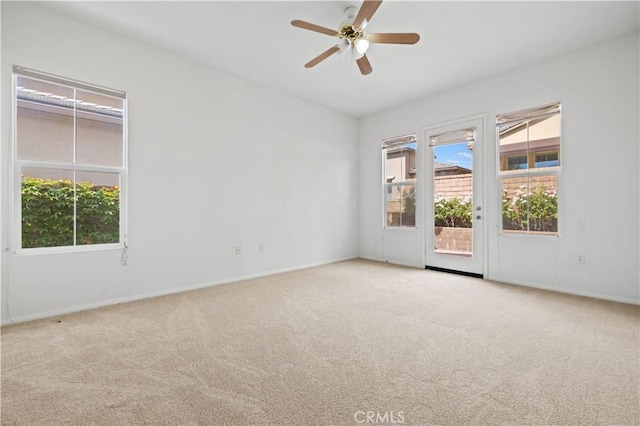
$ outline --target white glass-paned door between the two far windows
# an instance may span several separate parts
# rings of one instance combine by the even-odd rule
[[[424,130],[425,266],[484,274],[482,117]]]

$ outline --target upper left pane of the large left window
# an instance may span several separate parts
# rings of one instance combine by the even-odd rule
[[[16,83],[17,158],[73,162],[73,89],[26,77]]]

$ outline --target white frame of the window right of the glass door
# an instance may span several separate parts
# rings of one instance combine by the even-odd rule
[[[553,234],[544,234],[536,231],[531,231],[527,229],[526,231],[518,232],[518,231],[510,231],[503,229],[503,211],[502,211],[502,180],[504,178],[518,178],[518,177],[526,177],[527,181],[530,177],[535,176],[555,176],[557,181],[557,193],[562,194],[560,189],[560,172],[562,163],[559,163],[558,166],[553,167],[535,167],[534,164],[529,164],[529,153],[527,152],[527,169],[516,169],[516,170],[500,170],[500,125],[506,122],[508,123],[525,123],[527,121],[531,121],[534,118],[542,118],[545,116],[560,116],[560,143],[557,150],[549,150],[544,152],[557,152],[558,159],[561,160],[561,151],[562,151],[562,103],[561,102],[553,102],[548,105],[529,108],[521,111],[516,111],[507,114],[500,114],[496,117],[496,164],[497,167],[497,182],[498,182],[498,200],[499,200],[499,208],[498,208],[498,228],[501,236],[523,236],[526,238],[559,238],[560,237],[560,203],[557,204],[558,210],[558,222],[557,222],[557,230]],[[543,151],[541,151],[543,152]],[[535,153],[534,153],[535,155]]]

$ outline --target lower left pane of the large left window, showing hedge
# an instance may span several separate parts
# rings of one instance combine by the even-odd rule
[[[73,171],[22,169],[22,248],[73,245]]]

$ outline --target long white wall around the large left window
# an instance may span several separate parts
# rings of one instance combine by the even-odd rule
[[[3,250],[3,323],[357,256],[355,119],[34,4],[1,7],[2,247],[12,64],[127,91],[130,167],[128,265],[119,250]]]

